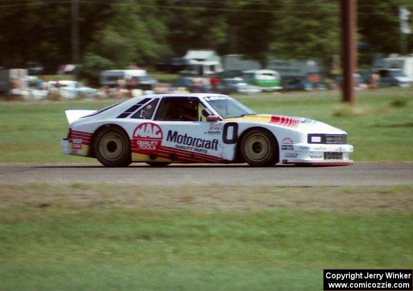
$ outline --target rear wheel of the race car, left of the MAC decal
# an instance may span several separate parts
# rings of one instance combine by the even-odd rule
[[[96,158],[107,167],[126,167],[132,163],[131,142],[119,127],[105,127],[93,144]]]

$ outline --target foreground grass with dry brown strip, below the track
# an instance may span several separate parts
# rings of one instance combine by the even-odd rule
[[[411,268],[412,190],[3,185],[1,290],[322,290]]]

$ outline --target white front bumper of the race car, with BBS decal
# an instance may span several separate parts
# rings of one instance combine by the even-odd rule
[[[352,145],[294,144],[281,145],[282,164],[351,165]]]

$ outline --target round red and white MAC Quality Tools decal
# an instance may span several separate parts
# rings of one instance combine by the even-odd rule
[[[135,128],[132,145],[139,154],[149,155],[162,144],[162,129],[155,123],[144,122]]]

